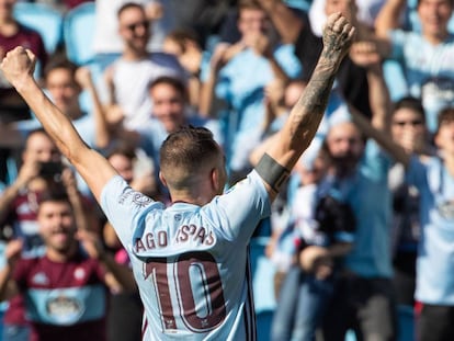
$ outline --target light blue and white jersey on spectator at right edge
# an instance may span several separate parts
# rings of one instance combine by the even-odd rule
[[[454,177],[438,157],[413,157],[407,180],[420,193],[416,298],[454,306]]]

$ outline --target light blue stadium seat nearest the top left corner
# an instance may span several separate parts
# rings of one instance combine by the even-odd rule
[[[45,3],[18,2],[14,18],[24,26],[37,31],[46,52],[52,55],[63,38],[63,14]]]

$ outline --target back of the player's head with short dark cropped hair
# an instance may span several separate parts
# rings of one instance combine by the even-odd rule
[[[223,156],[213,133],[204,127],[185,126],[171,133],[160,149],[160,168],[168,185],[175,190],[190,187],[207,167]]]

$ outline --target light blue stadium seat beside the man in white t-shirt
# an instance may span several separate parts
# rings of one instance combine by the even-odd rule
[[[94,2],[84,2],[70,10],[64,19],[66,54],[76,65],[93,61]]]

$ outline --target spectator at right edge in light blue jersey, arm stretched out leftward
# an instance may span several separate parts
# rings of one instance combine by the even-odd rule
[[[436,155],[409,152],[389,139],[386,132],[377,133],[362,122],[363,130],[374,134],[396,161],[406,168],[406,183],[416,186],[419,194],[420,238],[417,258],[415,298],[417,305],[418,340],[450,340],[454,334],[451,316],[454,309],[454,285],[446,274],[454,269],[453,189],[454,173],[454,110],[439,114],[434,136]]]

